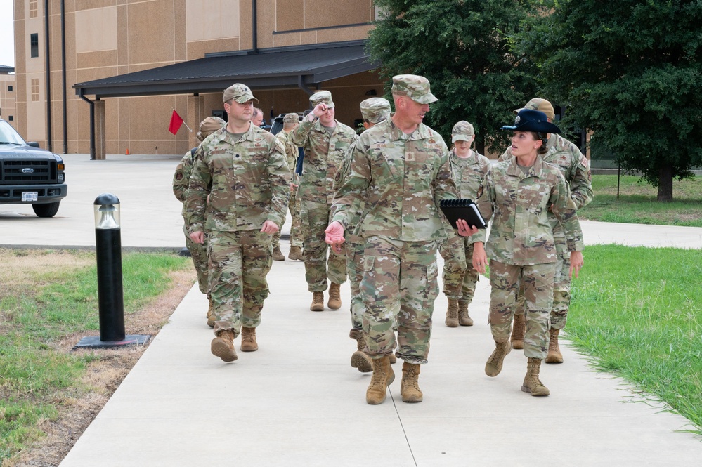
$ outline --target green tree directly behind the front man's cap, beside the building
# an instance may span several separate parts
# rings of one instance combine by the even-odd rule
[[[420,74],[439,100],[427,124],[443,136],[460,120],[476,130],[476,147],[502,152],[512,110],[534,97],[535,79],[510,51],[510,34],[526,18],[515,0],[377,0],[384,19],[369,34],[382,79]],[[386,94],[389,96],[389,87]],[[450,141],[449,141],[450,142]]]

